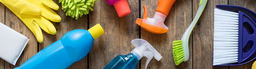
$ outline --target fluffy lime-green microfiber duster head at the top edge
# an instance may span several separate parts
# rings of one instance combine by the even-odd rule
[[[82,17],[83,14],[89,14],[89,10],[93,11],[92,7],[94,7],[95,1],[96,0],[59,0],[59,3],[61,3],[62,10],[66,12],[66,16],[71,16],[72,18],[76,17],[77,20],[79,17]]]

